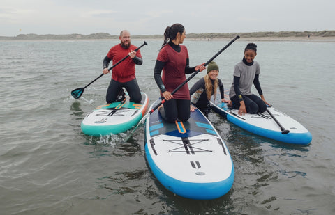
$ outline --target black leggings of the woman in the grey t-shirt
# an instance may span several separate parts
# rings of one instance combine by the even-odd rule
[[[242,95],[244,104],[246,104],[246,113],[263,113],[264,111],[267,110],[267,104],[263,102],[260,97],[257,95]],[[230,98],[232,100],[232,106],[234,109],[239,109],[239,99],[237,98],[237,95],[234,95],[233,97]]]

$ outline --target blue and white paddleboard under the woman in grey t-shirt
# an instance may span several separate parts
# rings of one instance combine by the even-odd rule
[[[216,95],[216,98],[221,98],[221,95]],[[253,134],[284,143],[308,144],[312,141],[311,133],[303,125],[274,107],[267,109],[286,130],[290,131],[288,134],[282,134],[281,128],[267,111],[241,116],[239,110],[228,108],[227,104],[222,103],[220,99],[214,100],[214,97],[211,98],[211,108],[228,121]]]

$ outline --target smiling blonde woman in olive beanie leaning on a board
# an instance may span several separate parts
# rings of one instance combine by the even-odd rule
[[[225,99],[225,90],[221,79],[218,79],[218,65],[211,61],[207,65],[207,74],[199,81],[195,82],[190,90],[191,104],[196,106],[204,116],[208,117],[210,111],[209,101],[211,96],[216,97],[216,90],[219,88],[221,93],[221,102],[228,103]],[[191,106],[191,111],[194,111],[194,107]]]

